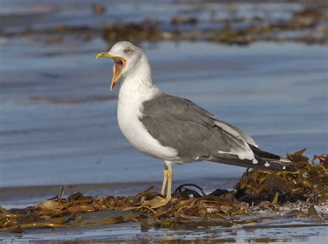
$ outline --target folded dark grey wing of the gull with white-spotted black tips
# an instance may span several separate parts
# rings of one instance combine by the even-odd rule
[[[295,171],[277,160],[266,161],[254,155],[253,150],[271,154],[259,150],[242,130],[219,121],[187,99],[160,94],[145,101],[140,121],[161,145],[176,149],[183,162],[208,160],[246,168]]]

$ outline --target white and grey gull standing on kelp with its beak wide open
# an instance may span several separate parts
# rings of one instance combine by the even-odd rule
[[[163,198],[147,201],[150,207],[161,207],[172,200],[174,164],[210,161],[295,171],[288,159],[260,150],[248,134],[234,125],[219,120],[192,101],[161,92],[152,80],[147,56],[138,46],[118,42],[109,52],[96,55],[100,57],[113,59],[111,90],[120,80],[117,112],[120,130],[136,149],[165,162]]]

